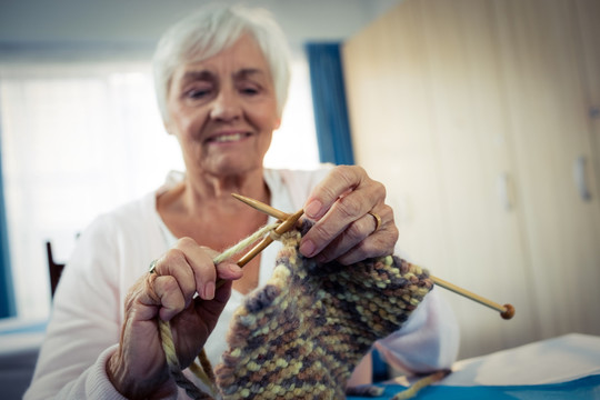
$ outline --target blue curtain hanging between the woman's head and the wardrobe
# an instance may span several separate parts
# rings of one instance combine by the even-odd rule
[[[319,158],[353,164],[340,43],[307,43]]]

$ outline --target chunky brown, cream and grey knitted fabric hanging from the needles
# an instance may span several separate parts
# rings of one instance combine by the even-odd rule
[[[372,343],[398,330],[431,290],[427,271],[397,257],[340,266],[281,240],[272,278],[237,310],[216,369],[224,399],[341,399]]]

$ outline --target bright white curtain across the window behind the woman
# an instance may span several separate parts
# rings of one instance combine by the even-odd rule
[[[183,164],[162,128],[144,63],[0,66],[0,120],[18,316],[44,319],[44,242],[67,260],[96,216],[156,189]],[[313,168],[316,143],[308,67],[298,60],[266,164]]]

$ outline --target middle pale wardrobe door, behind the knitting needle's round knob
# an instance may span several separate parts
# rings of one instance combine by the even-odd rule
[[[486,308],[454,300],[463,346],[472,347],[462,356],[522,344],[539,337],[540,326],[529,291],[493,4],[481,0],[419,3],[451,249],[450,269],[443,273],[518,310],[517,318],[507,322]]]

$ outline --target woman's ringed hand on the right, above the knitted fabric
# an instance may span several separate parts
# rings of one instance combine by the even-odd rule
[[[351,264],[393,253],[398,229],[386,187],[360,167],[336,167],[309,196],[306,216],[316,221],[300,242],[300,252],[320,262]],[[379,227],[377,218],[381,218]]]

